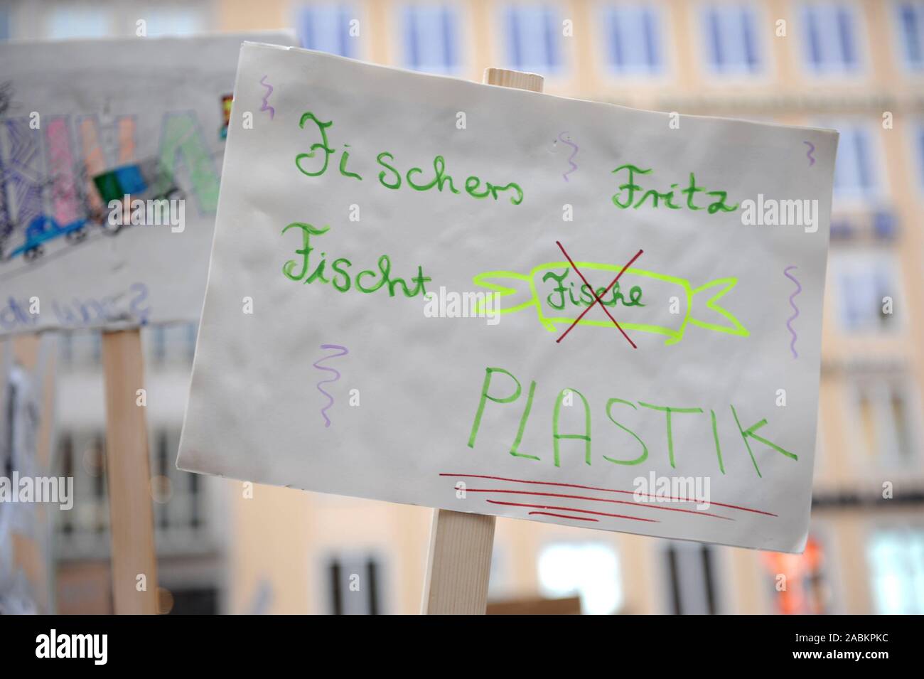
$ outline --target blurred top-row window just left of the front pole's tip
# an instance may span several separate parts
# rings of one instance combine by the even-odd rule
[[[404,11],[405,64],[430,73],[458,69],[456,11],[444,6],[410,6]]]

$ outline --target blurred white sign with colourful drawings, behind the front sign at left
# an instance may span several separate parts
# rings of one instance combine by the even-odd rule
[[[0,335],[199,318],[248,37],[0,44]]]

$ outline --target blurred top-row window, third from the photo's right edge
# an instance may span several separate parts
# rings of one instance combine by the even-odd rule
[[[757,18],[749,6],[711,6],[705,13],[706,54],[709,66],[725,75],[760,70]]]

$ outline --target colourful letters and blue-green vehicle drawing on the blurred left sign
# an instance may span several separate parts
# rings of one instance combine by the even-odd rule
[[[30,265],[53,254],[65,255],[72,251],[70,246],[98,236],[116,235],[133,222],[119,219],[113,224],[108,219],[110,201],[126,196],[142,201],[181,197],[173,172],[181,162],[191,168],[193,193],[203,212],[213,212],[218,176],[199,137],[195,114],[168,113],[163,121],[160,152],[141,161],[134,160],[133,115],[118,116],[104,126],[103,132],[115,130],[116,148],[103,148],[95,116],[53,116],[44,129],[32,129],[28,117],[0,121],[0,198],[15,197],[0,200],[0,266],[12,267],[20,255],[19,261]],[[118,164],[106,164],[113,156]],[[13,267],[4,278],[27,271],[28,267]]]

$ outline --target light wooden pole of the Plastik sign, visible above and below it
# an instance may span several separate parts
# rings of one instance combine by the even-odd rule
[[[542,91],[535,73],[486,68],[487,85]],[[483,615],[494,542],[493,516],[433,510],[430,555],[423,586],[422,612],[428,615]]]

